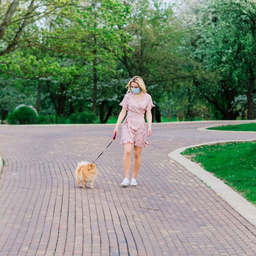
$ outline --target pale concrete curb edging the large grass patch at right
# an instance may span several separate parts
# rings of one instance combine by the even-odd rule
[[[173,152],[168,154],[168,157],[182,165],[186,168],[190,173],[198,177],[202,182],[204,182],[207,186],[209,186],[216,195],[220,196],[222,200],[227,202],[235,211],[237,211],[243,218],[245,218],[249,223],[256,227],[256,207],[248,202],[241,195],[236,193],[233,189],[227,186],[224,182],[214,177],[211,173],[205,171],[202,167],[200,167],[195,162],[191,162],[189,159],[181,155],[186,148],[198,147],[202,145],[213,145],[217,143],[225,143],[225,142],[234,142],[238,140],[227,140],[227,141],[214,141],[204,144],[197,144],[193,146],[188,146],[184,148],[178,148]],[[241,140],[241,141],[255,141],[255,140]]]

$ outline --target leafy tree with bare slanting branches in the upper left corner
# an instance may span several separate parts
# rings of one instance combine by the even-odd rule
[[[0,75],[8,74],[22,79],[39,79],[49,75],[45,68],[49,67],[49,63],[45,65],[44,60],[36,59],[34,52],[29,55],[28,51],[42,40],[45,19],[58,12],[58,9],[75,3],[73,0],[0,2]]]

